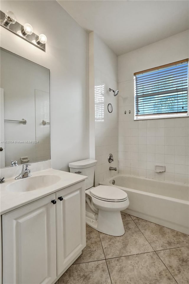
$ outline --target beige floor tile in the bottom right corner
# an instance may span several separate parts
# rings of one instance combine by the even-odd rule
[[[157,251],[179,284],[189,283],[189,246]]]

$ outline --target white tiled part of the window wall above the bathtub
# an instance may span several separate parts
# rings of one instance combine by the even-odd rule
[[[189,118],[133,121],[133,86],[119,84],[119,173],[188,184]],[[155,165],[165,165],[165,173],[155,173]]]

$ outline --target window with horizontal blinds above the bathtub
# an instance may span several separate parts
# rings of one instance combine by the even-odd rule
[[[134,73],[135,120],[188,116],[188,59]]]

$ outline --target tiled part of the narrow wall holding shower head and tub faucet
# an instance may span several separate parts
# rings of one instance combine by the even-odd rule
[[[110,166],[118,168],[118,96],[114,97],[109,87],[116,89],[117,83],[95,68],[95,185],[117,173],[110,171]],[[112,103],[112,113],[107,111],[108,103]],[[110,153],[113,163],[107,160]]]

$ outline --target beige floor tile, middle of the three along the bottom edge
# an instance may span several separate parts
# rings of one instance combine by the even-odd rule
[[[107,259],[112,284],[176,284],[155,252]]]

